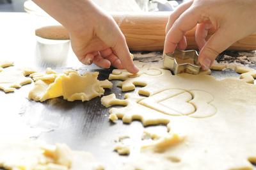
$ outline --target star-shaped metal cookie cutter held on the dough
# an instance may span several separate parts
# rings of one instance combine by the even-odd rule
[[[164,54],[164,67],[177,73],[198,74],[201,65],[196,50],[175,50]]]

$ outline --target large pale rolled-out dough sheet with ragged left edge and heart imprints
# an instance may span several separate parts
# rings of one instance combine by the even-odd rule
[[[210,75],[172,75],[170,71],[156,66],[151,72],[150,65],[141,65],[148,68],[146,73],[132,76],[115,70],[113,74],[114,79],[122,80],[122,88],[134,89],[134,86],[143,84],[138,94],[147,97],[127,93],[121,100],[111,95],[109,101],[102,98],[102,103],[108,106],[123,105],[111,108],[109,113],[116,114],[124,123],[140,120],[145,126],[163,124],[168,127],[170,134],[186,134],[186,139],[164,148],[161,153],[142,150],[136,162],[127,164],[131,167],[128,169],[253,169],[252,162],[256,160],[256,137],[252,135],[256,128],[255,85],[236,78],[218,81]],[[156,72],[161,73],[154,74]],[[176,109],[185,114],[170,115],[164,111],[166,107],[170,109],[170,94],[174,91],[187,94],[184,97],[176,94],[182,98],[183,106],[180,106],[185,107],[181,109],[175,105]],[[154,105],[141,104],[147,100],[154,103],[158,99],[164,109],[158,106],[152,109]],[[194,106],[195,111],[189,113],[192,107],[189,109],[186,101]]]

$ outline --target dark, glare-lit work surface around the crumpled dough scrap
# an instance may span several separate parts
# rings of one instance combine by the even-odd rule
[[[0,58],[9,58],[15,66],[30,66],[43,71],[48,66],[57,72],[67,68],[79,68],[79,72],[99,71],[99,79],[108,79],[111,72],[97,68],[97,66],[84,66],[72,52],[68,53],[67,62],[57,62],[52,65],[44,60],[42,50],[45,47],[36,42],[33,35],[34,22],[31,16],[25,13],[0,13]],[[51,49],[48,49],[51,51]],[[51,55],[51,52],[47,53]],[[135,55],[148,61],[151,54]],[[153,53],[156,60],[160,53]],[[154,60],[154,59],[151,59]],[[217,79],[224,77],[238,77],[234,71],[212,72]],[[115,93],[117,97],[124,94],[120,88],[106,89],[105,95]],[[100,98],[90,102],[67,102],[62,98],[48,100],[44,103],[28,100],[28,92],[33,84],[22,86],[14,93],[5,94],[0,91],[0,135],[1,139],[40,139],[47,143],[66,143],[74,150],[90,151],[100,162],[109,169],[115,167],[115,158],[124,160],[132,158],[120,157],[113,152],[115,139],[120,135],[141,135],[143,126],[134,121],[131,125],[124,125],[122,121],[111,123],[108,120],[108,109],[100,104]],[[148,127],[154,128],[154,127]],[[161,128],[161,127],[158,127]],[[109,162],[109,163],[108,163]]]

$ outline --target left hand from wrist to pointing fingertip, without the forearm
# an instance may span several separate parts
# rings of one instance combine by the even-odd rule
[[[97,8],[86,20],[81,30],[70,32],[71,45],[79,61],[86,65],[95,63],[102,68],[113,65],[138,72],[132,63],[125,37],[111,16]],[[119,57],[119,58],[118,58]]]

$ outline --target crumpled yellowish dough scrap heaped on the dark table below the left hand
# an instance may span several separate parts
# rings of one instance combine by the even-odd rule
[[[56,78],[44,79],[44,77],[47,77],[46,75],[55,75]],[[88,101],[103,95],[103,88],[112,88],[112,83],[108,80],[97,80],[98,75],[98,72],[88,72],[84,75],[79,75],[77,72],[68,72],[68,75],[49,72],[49,74],[43,76],[38,75],[40,78],[35,82],[35,86],[29,92],[28,98],[44,102],[50,98],[63,96],[68,101]],[[34,78],[37,77],[36,74],[32,76]],[[52,82],[52,80],[54,81]]]

